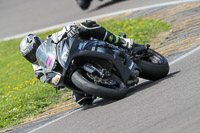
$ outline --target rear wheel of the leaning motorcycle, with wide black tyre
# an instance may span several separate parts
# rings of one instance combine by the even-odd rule
[[[169,72],[169,64],[164,56],[149,49],[150,56],[134,61],[142,70],[139,77],[148,80],[158,80],[165,77]]]

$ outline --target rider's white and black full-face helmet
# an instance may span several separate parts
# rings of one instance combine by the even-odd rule
[[[19,50],[29,62],[35,64],[37,61],[36,50],[42,42],[43,40],[40,37],[29,34],[22,39]]]

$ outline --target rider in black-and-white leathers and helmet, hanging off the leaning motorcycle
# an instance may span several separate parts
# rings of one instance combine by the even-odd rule
[[[48,37],[52,38],[54,44],[58,44],[62,39],[67,37],[79,36],[84,39],[99,39],[114,45],[131,49],[133,47],[133,39],[122,38],[107,31],[104,27],[98,25],[95,21],[86,20],[80,25],[67,25],[61,31],[56,32]],[[42,82],[49,83],[56,87],[61,86],[61,75],[55,73],[49,73],[47,75],[43,72],[43,67],[39,66],[36,59],[36,50],[43,43],[43,40],[33,34],[29,34],[24,37],[20,43],[19,49],[21,54],[32,63],[35,77]],[[74,100],[80,104],[91,104],[94,97],[89,95],[73,92]]]

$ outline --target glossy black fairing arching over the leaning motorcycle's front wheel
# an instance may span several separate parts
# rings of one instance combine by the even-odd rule
[[[72,60],[79,58],[99,58],[109,60],[119,72],[123,82],[127,82],[136,64],[127,54],[121,53],[120,49],[104,48],[103,41],[88,41],[80,38],[68,38],[57,45],[57,59],[63,67],[63,76],[68,76]],[[69,52],[66,53],[66,48]],[[70,79],[70,78],[67,78]]]

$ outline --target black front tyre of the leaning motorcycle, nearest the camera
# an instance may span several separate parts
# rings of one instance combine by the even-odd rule
[[[76,70],[71,77],[74,85],[84,92],[110,100],[118,100],[124,98],[127,94],[128,88],[124,83],[115,75],[112,75],[112,80],[116,83],[112,86],[99,85],[91,81],[87,77],[87,72],[83,70]]]

